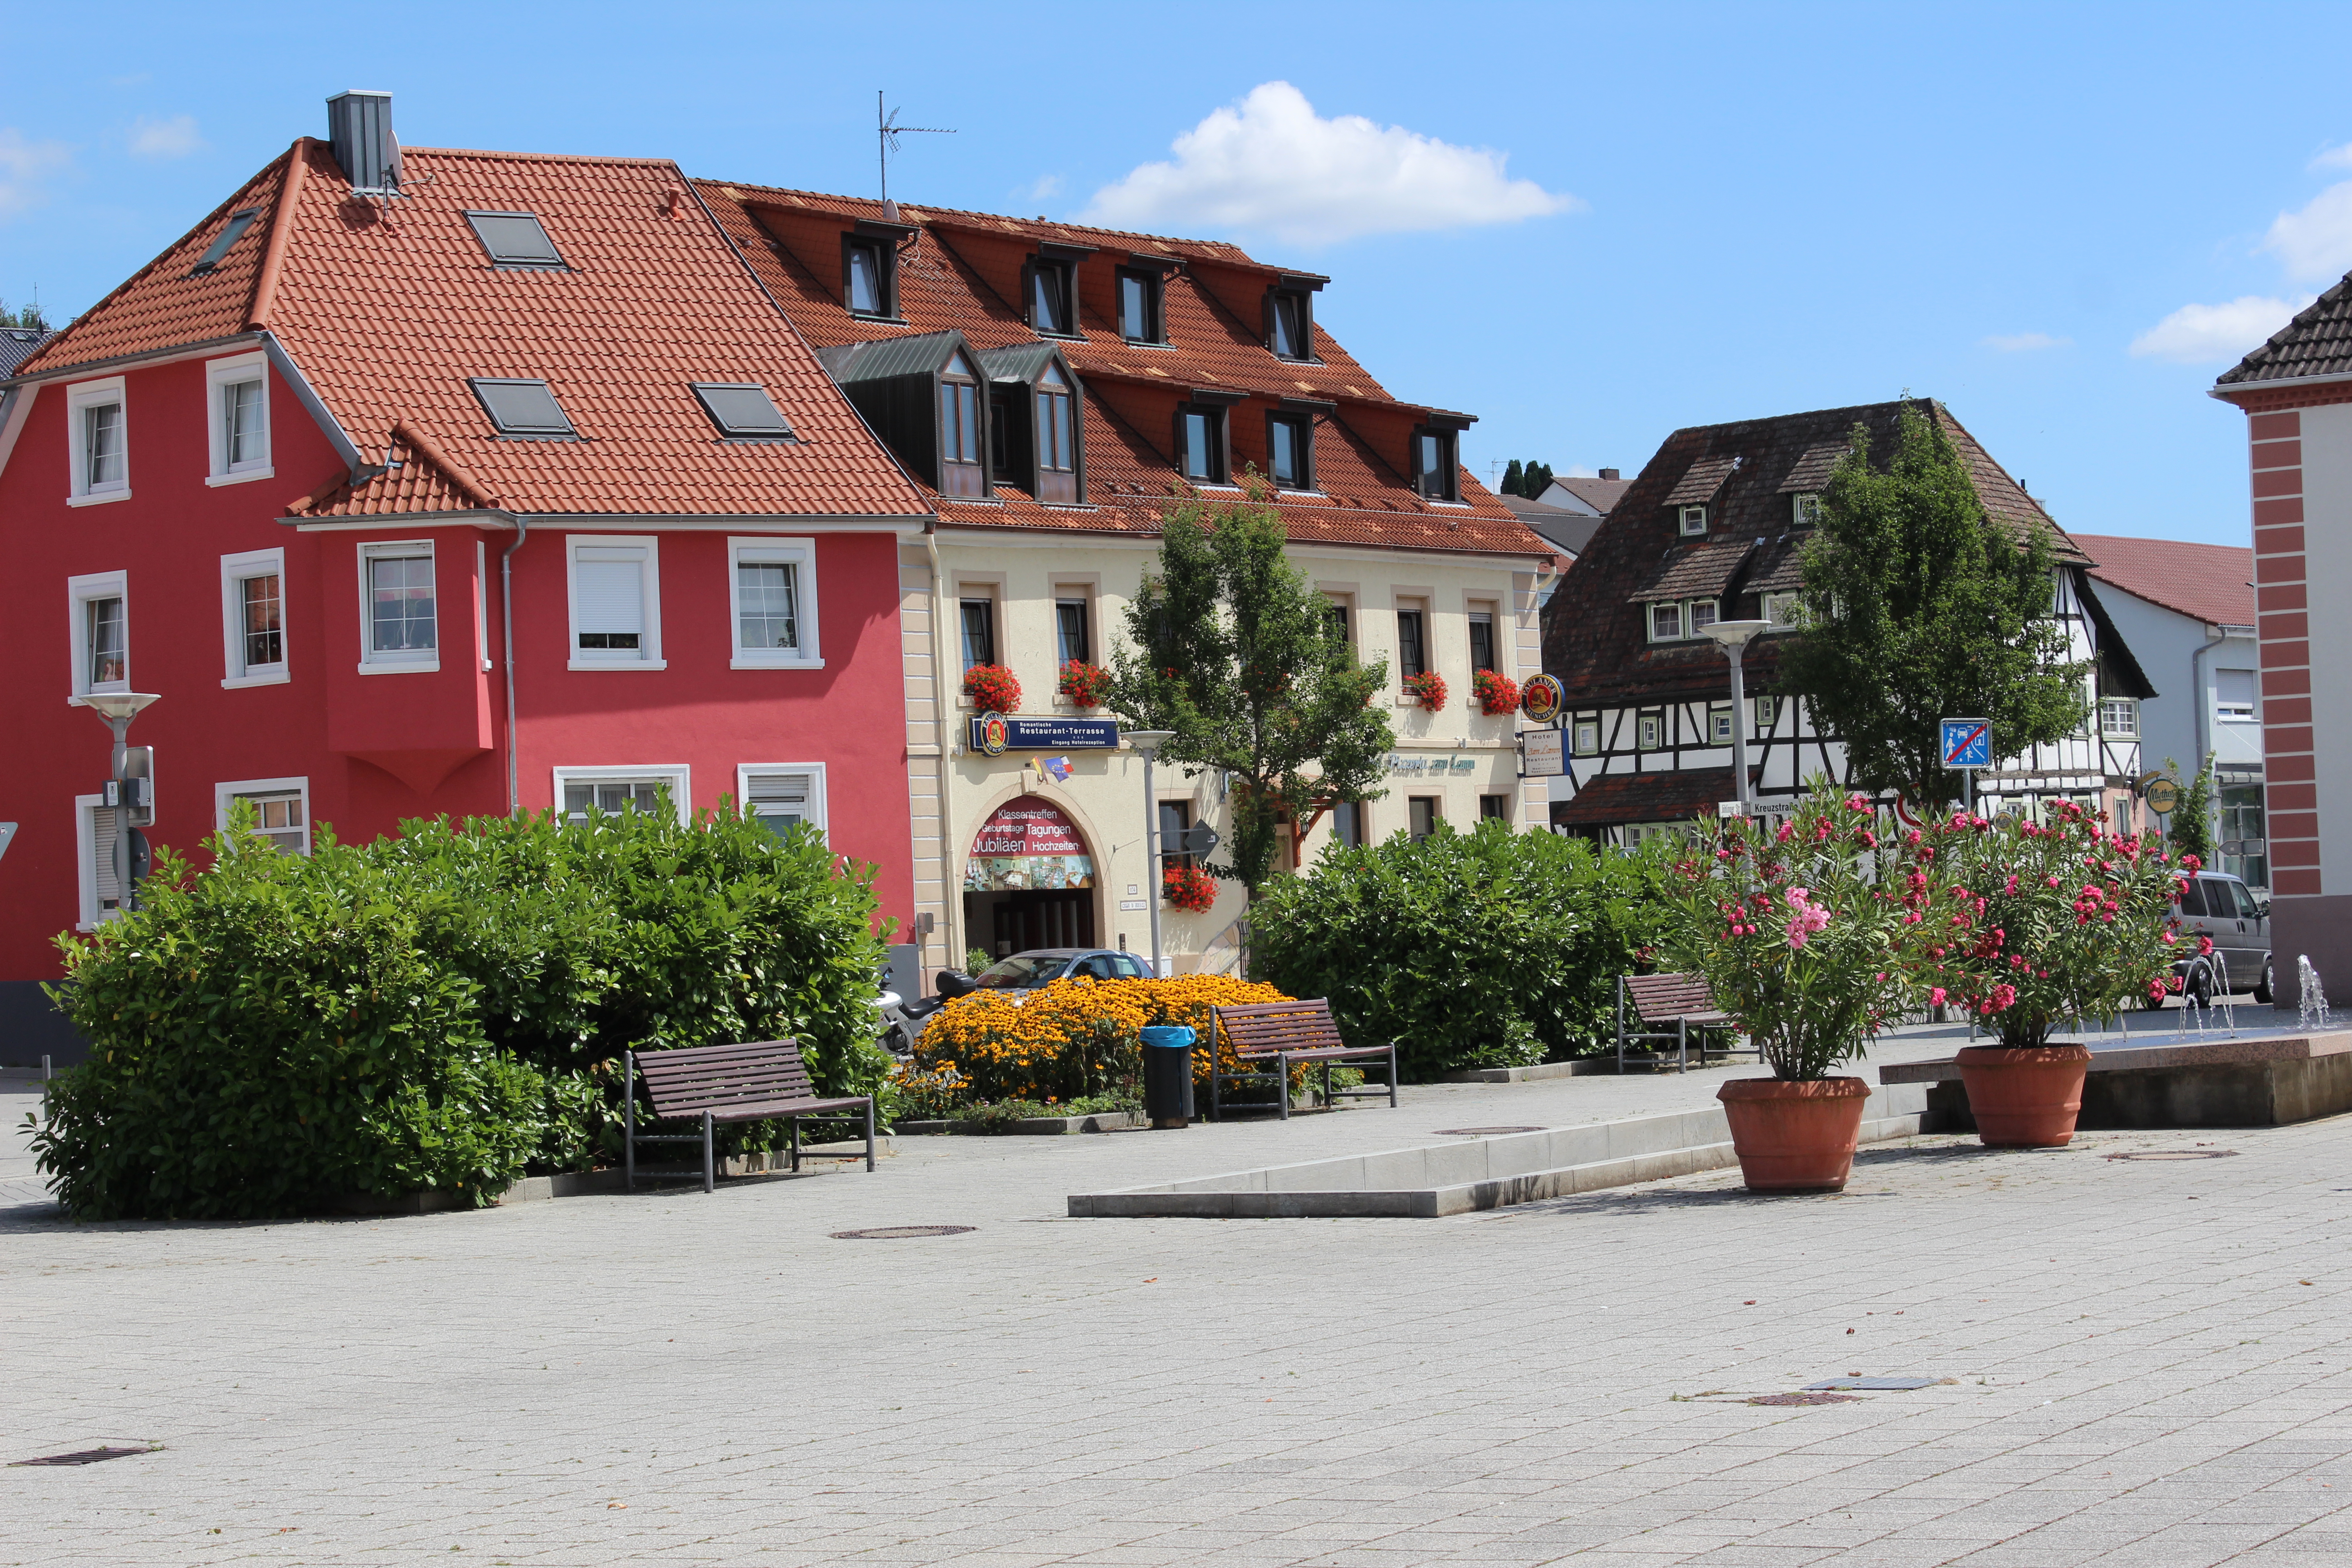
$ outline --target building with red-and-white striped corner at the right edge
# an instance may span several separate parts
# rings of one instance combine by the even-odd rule
[[[2326,656],[2352,590],[2352,277],[2225,371],[2246,414],[2272,950],[2352,985],[2352,668]]]

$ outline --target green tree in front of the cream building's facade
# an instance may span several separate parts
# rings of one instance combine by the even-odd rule
[[[1275,827],[1305,827],[1341,799],[1374,799],[1395,745],[1374,698],[1385,663],[1357,663],[1331,604],[1284,555],[1282,517],[1251,498],[1183,501],[1162,529],[1160,567],[1127,609],[1131,646],[1112,656],[1110,710],[1171,731],[1169,762],[1230,776],[1230,865],[1209,867],[1256,900],[1275,872]]]

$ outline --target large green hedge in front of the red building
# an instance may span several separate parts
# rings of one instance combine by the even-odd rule
[[[59,938],[52,994],[92,1058],[33,1145],[75,1218],[489,1201],[619,1154],[623,1048],[793,1034],[821,1093],[887,1086],[873,867],[809,830],[445,818],[280,856],[247,811],[212,867],[165,851],[139,912]]]

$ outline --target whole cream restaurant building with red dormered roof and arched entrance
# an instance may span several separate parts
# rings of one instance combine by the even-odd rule
[[[1517,724],[1475,668],[1538,668],[1552,552],[1463,473],[1470,416],[1392,397],[1315,320],[1329,280],[1202,240],[701,181],[699,197],[936,510],[898,548],[906,748],[927,966],[969,950],[1145,950],[1145,825],[1225,820],[1223,780],[1155,769],[1061,670],[1108,665],[1178,496],[1277,508],[1291,559],[1390,672],[1383,799],[1291,830],[1334,839],[1526,820]],[[1251,473],[1254,470],[1254,473]],[[964,693],[1004,670],[1000,731]],[[1435,670],[1430,712],[1399,679]],[[1536,816],[1541,820],[1541,795]],[[1169,856],[1169,863],[1181,856]],[[1171,971],[1230,969],[1244,900],[1162,903]]]

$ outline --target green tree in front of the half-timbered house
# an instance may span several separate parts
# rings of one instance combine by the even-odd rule
[[[2082,729],[2091,665],[2065,656],[2053,581],[2049,536],[1987,517],[1943,425],[1905,404],[1891,461],[1875,468],[1856,425],[1820,494],[1809,630],[1783,649],[1778,691],[1846,745],[1851,783],[1940,806],[1959,773],[1936,750],[1938,719],[1990,719],[2011,757]]]

